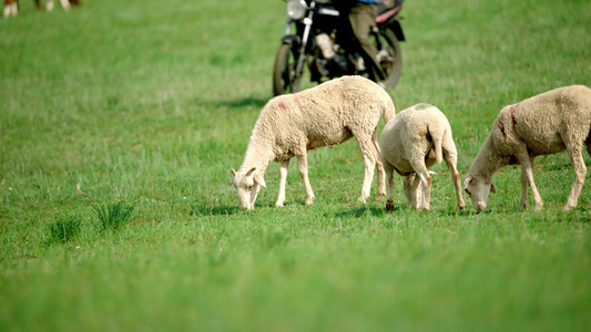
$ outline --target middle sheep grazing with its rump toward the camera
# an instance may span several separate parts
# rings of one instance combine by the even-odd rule
[[[466,204],[457,169],[458,153],[451,127],[441,111],[429,104],[418,104],[398,113],[384,127],[379,144],[388,185],[387,210],[394,209],[394,170],[404,177],[408,206],[429,210],[431,176],[427,168],[442,159],[451,173],[458,207],[463,209]]]

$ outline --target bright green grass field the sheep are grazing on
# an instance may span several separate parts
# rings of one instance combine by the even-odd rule
[[[518,210],[519,167],[480,214],[455,209],[441,165],[429,212],[400,179],[394,212],[360,205],[354,141],[309,155],[313,206],[292,166],[273,207],[273,164],[241,211],[230,168],[272,96],[284,2],[20,2],[0,20],[0,331],[589,330],[591,184],[563,212],[567,154],[538,159],[540,212]],[[388,92],[447,114],[462,178],[502,106],[591,85],[589,1],[408,0],[403,17]],[[133,210],[115,230],[109,207]]]

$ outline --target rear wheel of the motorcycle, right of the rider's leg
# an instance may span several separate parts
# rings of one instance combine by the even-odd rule
[[[383,49],[378,51],[378,60],[381,65],[381,70],[386,74],[384,84],[386,87],[394,87],[398,83],[400,73],[403,72],[403,52],[400,50],[400,43],[398,42],[394,31],[387,28],[381,31],[381,37],[387,43],[383,43]]]

